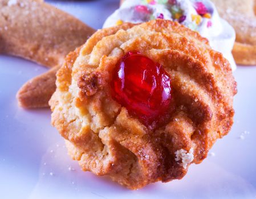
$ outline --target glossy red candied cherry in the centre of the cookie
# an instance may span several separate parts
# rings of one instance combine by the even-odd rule
[[[164,68],[139,52],[128,52],[113,70],[111,95],[146,126],[157,127],[172,102]]]

